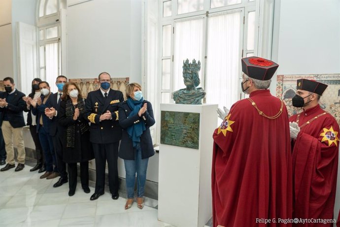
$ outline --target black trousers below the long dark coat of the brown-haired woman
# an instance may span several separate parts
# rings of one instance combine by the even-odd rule
[[[75,191],[77,187],[77,163],[68,163],[68,188]],[[82,188],[89,187],[89,162],[80,162],[80,182]]]

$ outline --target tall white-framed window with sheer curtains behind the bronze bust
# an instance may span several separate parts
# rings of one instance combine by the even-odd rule
[[[154,0],[147,0],[150,1]],[[261,7],[266,10],[260,15]],[[147,74],[158,84],[155,108],[160,103],[174,103],[172,93],[185,88],[183,61],[195,59],[201,62],[199,87],[206,91],[204,102],[230,109],[244,97],[239,82],[240,59],[270,53],[267,49],[271,43],[265,40],[270,40],[272,23],[265,21],[272,19],[272,9],[272,1],[268,0],[262,3],[259,0],[159,0],[158,74]],[[265,14],[268,14],[266,18]],[[261,18],[265,26],[259,24]],[[159,123],[158,116],[157,138]]]

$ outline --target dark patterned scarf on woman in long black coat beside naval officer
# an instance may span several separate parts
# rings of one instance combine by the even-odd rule
[[[78,99],[77,108],[79,109],[79,116],[85,113],[85,99],[83,98]],[[66,101],[66,110],[65,110],[66,117],[73,119],[74,110],[75,108],[74,108],[74,105],[72,104],[72,100],[68,99]],[[81,134],[84,134],[84,132],[86,132],[90,128],[87,122],[81,121],[81,122],[78,122],[78,125],[80,127]],[[66,134],[66,139],[67,139],[66,147],[67,148],[74,148],[74,137],[75,137],[74,131],[75,131],[75,124],[69,125],[66,130],[66,133],[67,133]]]

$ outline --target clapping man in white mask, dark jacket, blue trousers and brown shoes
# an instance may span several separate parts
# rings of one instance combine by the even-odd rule
[[[39,140],[42,150],[45,154],[46,172],[40,176],[40,179],[53,179],[59,176],[56,166],[56,157],[54,155],[52,137],[49,134],[51,120],[46,116],[45,109],[51,107],[50,85],[46,81],[39,82],[41,97],[31,100],[32,114],[36,115],[36,131],[39,134]],[[55,167],[53,168],[53,165]]]

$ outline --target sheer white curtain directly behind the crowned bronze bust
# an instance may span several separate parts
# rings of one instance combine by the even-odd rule
[[[190,62],[195,59],[201,61],[199,72],[202,86],[203,60],[204,60],[204,17],[191,18],[190,20],[175,21],[174,32],[174,72],[173,89],[176,91],[185,88],[183,82],[183,60],[187,58]]]

